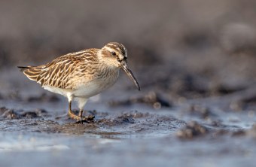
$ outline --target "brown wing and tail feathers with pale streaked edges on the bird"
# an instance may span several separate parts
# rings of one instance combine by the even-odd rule
[[[60,56],[46,65],[18,68],[23,71],[26,77],[29,77],[30,80],[35,80],[41,86],[72,89],[69,83],[69,80],[73,76],[72,73],[80,66],[79,64],[81,62],[87,62],[92,57],[95,59],[96,51],[96,49],[82,50]]]

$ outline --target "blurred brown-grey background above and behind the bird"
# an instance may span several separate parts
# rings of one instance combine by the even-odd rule
[[[2,0],[0,86],[20,85],[6,79],[17,65],[117,41],[142,90],[173,99],[243,90],[256,77],[255,8],[253,0]]]

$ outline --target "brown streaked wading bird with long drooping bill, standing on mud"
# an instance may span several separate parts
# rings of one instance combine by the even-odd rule
[[[127,49],[123,44],[109,42],[101,49],[90,48],[68,53],[44,65],[17,67],[45,90],[65,96],[69,101],[68,116],[83,123],[94,119],[94,116],[83,117],[87,100],[113,86],[120,69],[125,71],[140,90],[127,59]],[[78,101],[78,115],[72,111],[74,100]]]

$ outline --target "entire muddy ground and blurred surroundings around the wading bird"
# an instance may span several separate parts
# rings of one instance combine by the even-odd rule
[[[254,166],[255,8],[252,0],[0,2],[0,166]],[[66,117],[64,97],[16,68],[109,41],[128,48],[142,90],[121,72],[87,103],[90,123]]]

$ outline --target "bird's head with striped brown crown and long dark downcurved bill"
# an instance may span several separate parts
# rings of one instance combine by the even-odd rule
[[[100,59],[111,68],[122,68],[140,90],[139,83],[127,65],[127,50],[123,44],[110,42],[100,50]]]

